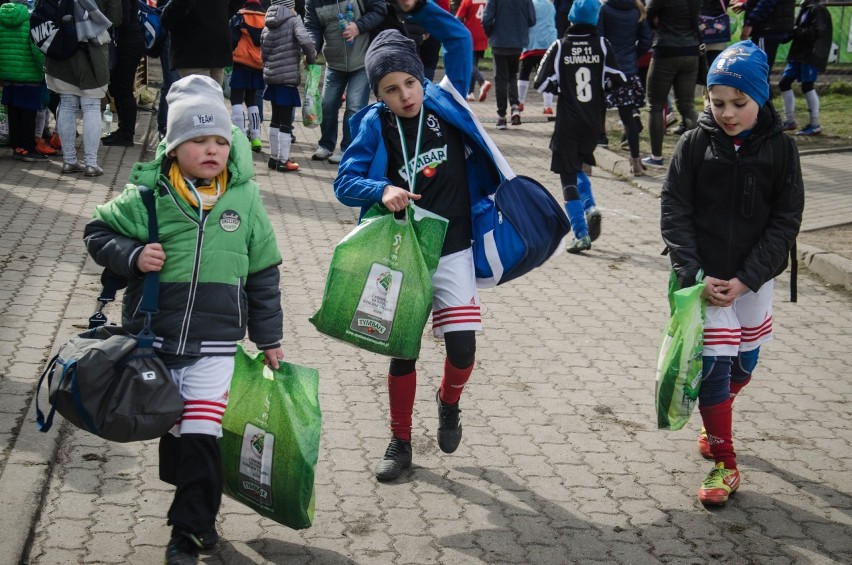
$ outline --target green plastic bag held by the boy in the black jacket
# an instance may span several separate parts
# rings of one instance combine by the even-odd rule
[[[679,430],[692,414],[701,388],[704,353],[704,283],[678,290],[669,277],[671,318],[657,357],[657,427]]]

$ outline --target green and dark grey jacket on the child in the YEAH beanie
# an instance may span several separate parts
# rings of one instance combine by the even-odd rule
[[[143,276],[135,265],[142,242],[148,240],[148,214],[137,185],[157,187],[159,241],[166,262],[152,329],[162,353],[233,355],[246,328],[261,350],[280,344],[281,254],[252,180],[251,156],[245,134],[233,128],[228,188],[200,218],[163,174],[163,141],[156,158],[134,165],[124,192],[98,206],[86,226],[84,239],[95,262],[129,281],[122,325],[131,332],[141,330],[144,315],[137,309]]]

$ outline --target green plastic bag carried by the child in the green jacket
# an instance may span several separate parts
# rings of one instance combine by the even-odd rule
[[[314,518],[314,468],[322,417],[316,369],[276,370],[238,346],[222,418],[224,493],[293,529]]]

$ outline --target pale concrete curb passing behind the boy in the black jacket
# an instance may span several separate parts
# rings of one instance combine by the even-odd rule
[[[821,153],[825,152],[822,151]],[[653,194],[657,198],[660,197],[663,188],[662,179],[654,176],[632,176],[626,156],[598,147],[595,150],[595,159],[598,167],[611,172],[640,190]],[[799,244],[796,249],[797,257],[802,266],[828,284],[852,291],[852,260],[811,245]]]

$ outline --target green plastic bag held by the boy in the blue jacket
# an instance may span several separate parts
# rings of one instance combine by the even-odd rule
[[[400,220],[374,205],[335,247],[311,323],[367,351],[417,359],[446,232],[445,218],[417,206]]]

